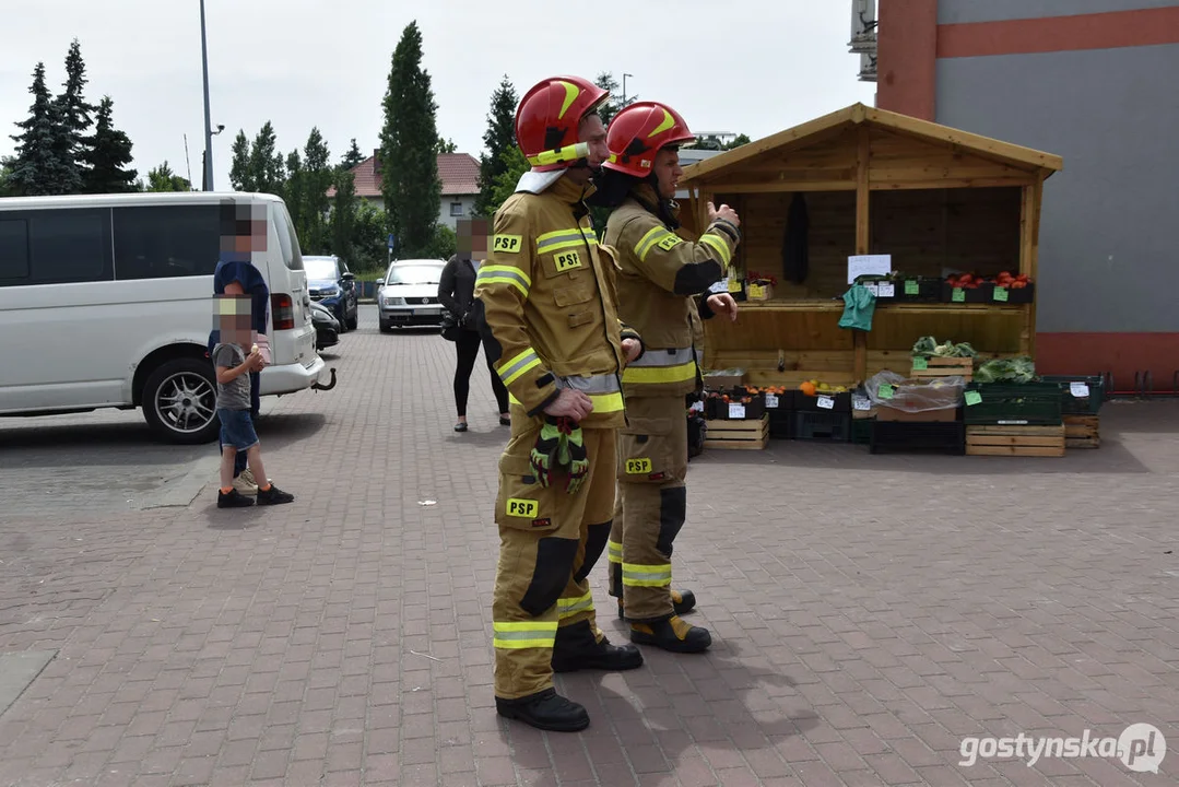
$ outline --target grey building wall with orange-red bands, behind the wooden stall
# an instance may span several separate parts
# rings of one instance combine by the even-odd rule
[[[934,20],[917,0],[884,4],[881,17],[882,109],[928,106],[937,123],[1063,158],[1041,214],[1040,369],[1111,370],[1125,389],[1150,368],[1170,386],[1179,2],[937,0]],[[931,24],[934,57],[914,58],[928,53]]]

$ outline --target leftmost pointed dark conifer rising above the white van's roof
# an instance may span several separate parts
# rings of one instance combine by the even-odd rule
[[[21,133],[12,137],[17,155],[8,178],[9,189],[26,196],[74,194],[78,168],[62,152],[68,150],[68,144],[61,131],[59,107],[45,85],[44,63],[38,63],[33,70],[28,92],[33,94],[29,116],[17,124]]]

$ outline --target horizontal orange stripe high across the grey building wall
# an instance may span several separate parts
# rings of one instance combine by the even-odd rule
[[[881,34],[884,26],[881,26]],[[937,26],[938,58],[1179,44],[1179,6]],[[883,63],[884,58],[881,58]]]

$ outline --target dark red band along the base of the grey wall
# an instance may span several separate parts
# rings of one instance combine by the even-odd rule
[[[1113,373],[1118,391],[1134,388],[1134,373],[1147,370],[1155,391],[1171,391],[1179,370],[1179,333],[1036,333],[1040,374]]]

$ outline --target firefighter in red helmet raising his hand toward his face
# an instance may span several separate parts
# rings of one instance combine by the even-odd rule
[[[684,118],[656,101],[632,104],[610,124],[610,159],[599,204],[613,208],[604,243],[618,256],[619,316],[643,335],[643,358],[623,373],[627,424],[619,434],[619,505],[608,544],[610,592],[631,625],[631,642],[673,652],[712,643],[707,629],[680,615],[696,605],[672,584],[672,545],[687,514],[685,396],[699,393],[696,350],[700,319],[737,319],[725,278],[740,240],[727,205],[709,204],[710,224],[696,243],[679,228],[678,147],[693,140]]]

